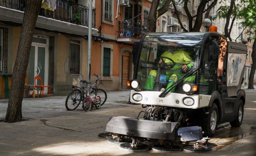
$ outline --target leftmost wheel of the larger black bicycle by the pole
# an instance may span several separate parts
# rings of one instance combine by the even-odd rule
[[[79,104],[81,103],[82,96],[81,91],[79,89],[74,89],[71,93],[67,96],[65,106],[68,111],[75,110]]]

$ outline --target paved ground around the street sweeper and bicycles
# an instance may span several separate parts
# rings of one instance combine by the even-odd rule
[[[243,124],[231,128],[229,123],[218,126],[217,134],[209,141],[212,151],[207,154],[151,151],[127,153],[107,140],[99,139],[110,116],[136,117],[144,110],[140,105],[125,104],[129,91],[109,92],[108,100],[100,110],[84,112],[65,110],[65,97],[25,99],[23,116],[27,121],[0,122],[0,156],[11,155],[256,155],[256,90],[246,90]],[[7,100],[0,99],[0,119],[4,117]]]

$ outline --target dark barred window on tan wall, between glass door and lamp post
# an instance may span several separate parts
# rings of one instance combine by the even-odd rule
[[[70,40],[70,74],[80,74],[80,41]]]

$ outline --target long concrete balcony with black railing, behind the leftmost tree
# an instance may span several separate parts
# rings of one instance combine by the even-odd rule
[[[0,0],[0,20],[22,23],[25,0]],[[16,10],[16,12],[14,12]],[[95,9],[92,10],[92,33],[96,34]],[[70,24],[71,23],[71,24]],[[41,8],[36,27],[77,35],[87,35],[88,7],[70,2],[56,0],[56,10]]]

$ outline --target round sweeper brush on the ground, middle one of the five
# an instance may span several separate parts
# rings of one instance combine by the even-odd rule
[[[119,145],[119,149],[126,152],[145,152],[149,151],[149,147],[145,144],[138,144],[137,146],[131,146],[130,143],[123,143]]]

